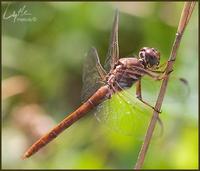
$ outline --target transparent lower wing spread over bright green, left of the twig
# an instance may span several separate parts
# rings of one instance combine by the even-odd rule
[[[135,97],[135,86],[114,94],[98,105],[95,116],[106,128],[123,135],[143,138],[152,109]]]

